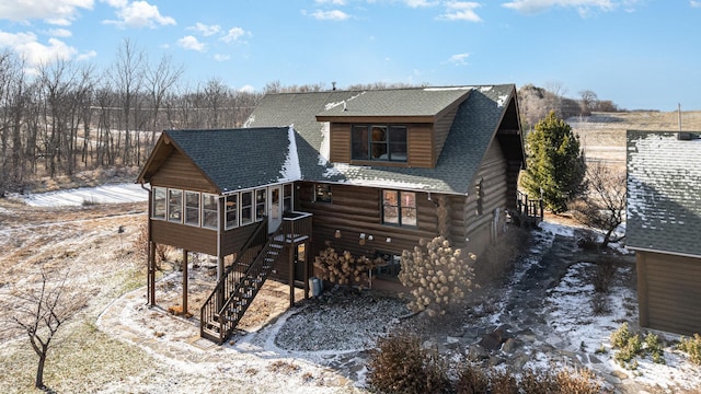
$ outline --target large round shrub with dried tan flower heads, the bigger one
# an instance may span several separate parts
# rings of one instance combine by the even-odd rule
[[[399,280],[411,288],[414,298],[409,309],[414,312],[426,310],[434,316],[445,314],[448,306],[464,300],[474,277],[472,263],[475,256],[470,254],[469,258],[472,262],[462,257],[461,250],[450,247],[444,236],[430,242],[421,240],[413,252],[402,252]]]

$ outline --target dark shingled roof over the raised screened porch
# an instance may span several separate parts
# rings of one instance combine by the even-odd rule
[[[225,194],[299,178],[289,127],[164,134]]]

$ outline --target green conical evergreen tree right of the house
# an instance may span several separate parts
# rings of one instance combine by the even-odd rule
[[[554,112],[536,124],[526,138],[528,159],[521,185],[530,196],[540,196],[553,213],[567,210],[567,201],[585,190],[586,164],[579,138]]]

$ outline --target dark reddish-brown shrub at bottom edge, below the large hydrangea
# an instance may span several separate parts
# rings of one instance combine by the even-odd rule
[[[413,334],[392,333],[377,341],[368,360],[368,383],[382,393],[445,393],[450,381],[437,352]]]

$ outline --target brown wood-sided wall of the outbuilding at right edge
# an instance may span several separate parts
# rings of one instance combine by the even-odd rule
[[[640,325],[683,335],[701,332],[701,258],[635,255]]]

